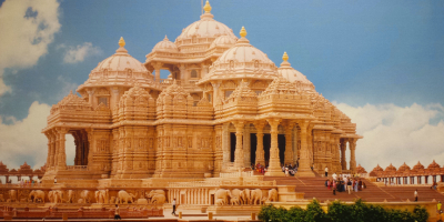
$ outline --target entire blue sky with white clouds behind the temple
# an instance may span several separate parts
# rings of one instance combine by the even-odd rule
[[[279,65],[287,52],[357,124],[356,161],[444,164],[444,1],[210,1],[214,19]],[[87,81],[123,37],[141,62],[199,20],[200,0],[0,0],[0,160],[43,165],[52,104]],[[168,73],[162,73],[163,78]],[[73,140],[67,137],[68,164]]]

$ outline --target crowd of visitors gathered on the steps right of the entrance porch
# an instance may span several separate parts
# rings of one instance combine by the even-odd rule
[[[332,190],[334,195],[336,195],[336,191],[349,192],[349,194],[352,194],[352,191],[359,192],[366,189],[365,182],[361,179],[356,179],[351,174],[337,175],[336,173],[333,173],[332,179],[325,180],[325,186],[327,186],[329,190]]]

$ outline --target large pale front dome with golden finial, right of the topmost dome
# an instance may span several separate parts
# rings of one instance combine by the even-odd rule
[[[245,38],[246,31],[242,27],[241,39],[214,61],[210,73],[199,81],[199,84],[210,80],[224,79],[268,79],[278,77],[278,68],[265,53],[250,44]]]

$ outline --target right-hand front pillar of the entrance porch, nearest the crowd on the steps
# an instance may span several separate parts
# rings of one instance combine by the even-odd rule
[[[299,160],[299,169],[297,176],[314,176],[312,169],[310,168],[310,151],[307,144],[307,129],[309,122],[301,121],[299,122],[299,127],[301,128],[301,157]]]

